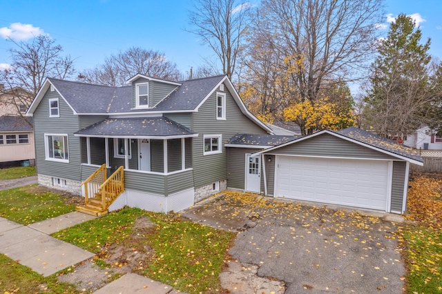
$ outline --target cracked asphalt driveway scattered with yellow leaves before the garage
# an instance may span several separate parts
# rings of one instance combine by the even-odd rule
[[[403,293],[398,224],[382,217],[233,192],[182,215],[238,231],[232,257],[285,293]]]

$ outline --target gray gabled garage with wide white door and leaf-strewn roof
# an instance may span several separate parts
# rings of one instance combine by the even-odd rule
[[[265,195],[393,213],[405,212],[410,163],[423,165],[416,150],[354,127],[247,156],[260,158]]]

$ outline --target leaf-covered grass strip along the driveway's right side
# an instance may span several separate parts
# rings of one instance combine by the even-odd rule
[[[416,177],[408,190],[407,219],[398,229],[407,262],[407,292],[442,292],[442,180]]]

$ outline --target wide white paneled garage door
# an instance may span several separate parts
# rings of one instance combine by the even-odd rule
[[[388,162],[278,157],[276,196],[387,209]]]

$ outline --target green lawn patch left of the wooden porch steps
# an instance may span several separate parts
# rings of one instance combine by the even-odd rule
[[[38,186],[0,191],[0,217],[19,224],[32,224],[75,210],[63,197]]]

